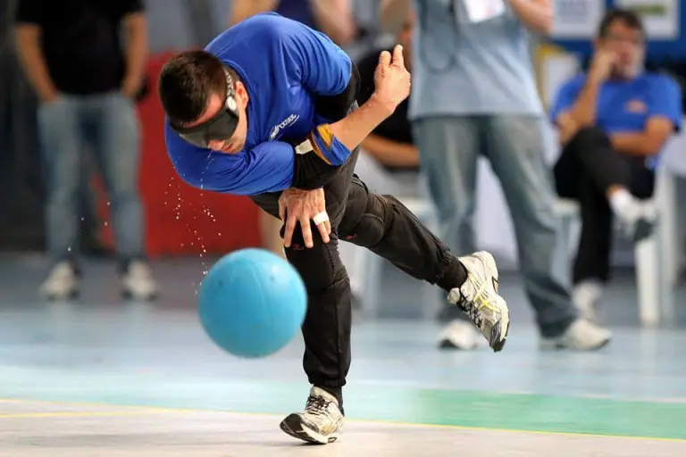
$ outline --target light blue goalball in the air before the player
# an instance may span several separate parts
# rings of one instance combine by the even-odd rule
[[[305,320],[305,284],[289,262],[263,249],[229,253],[207,272],[198,312],[207,335],[245,358],[276,353]]]

